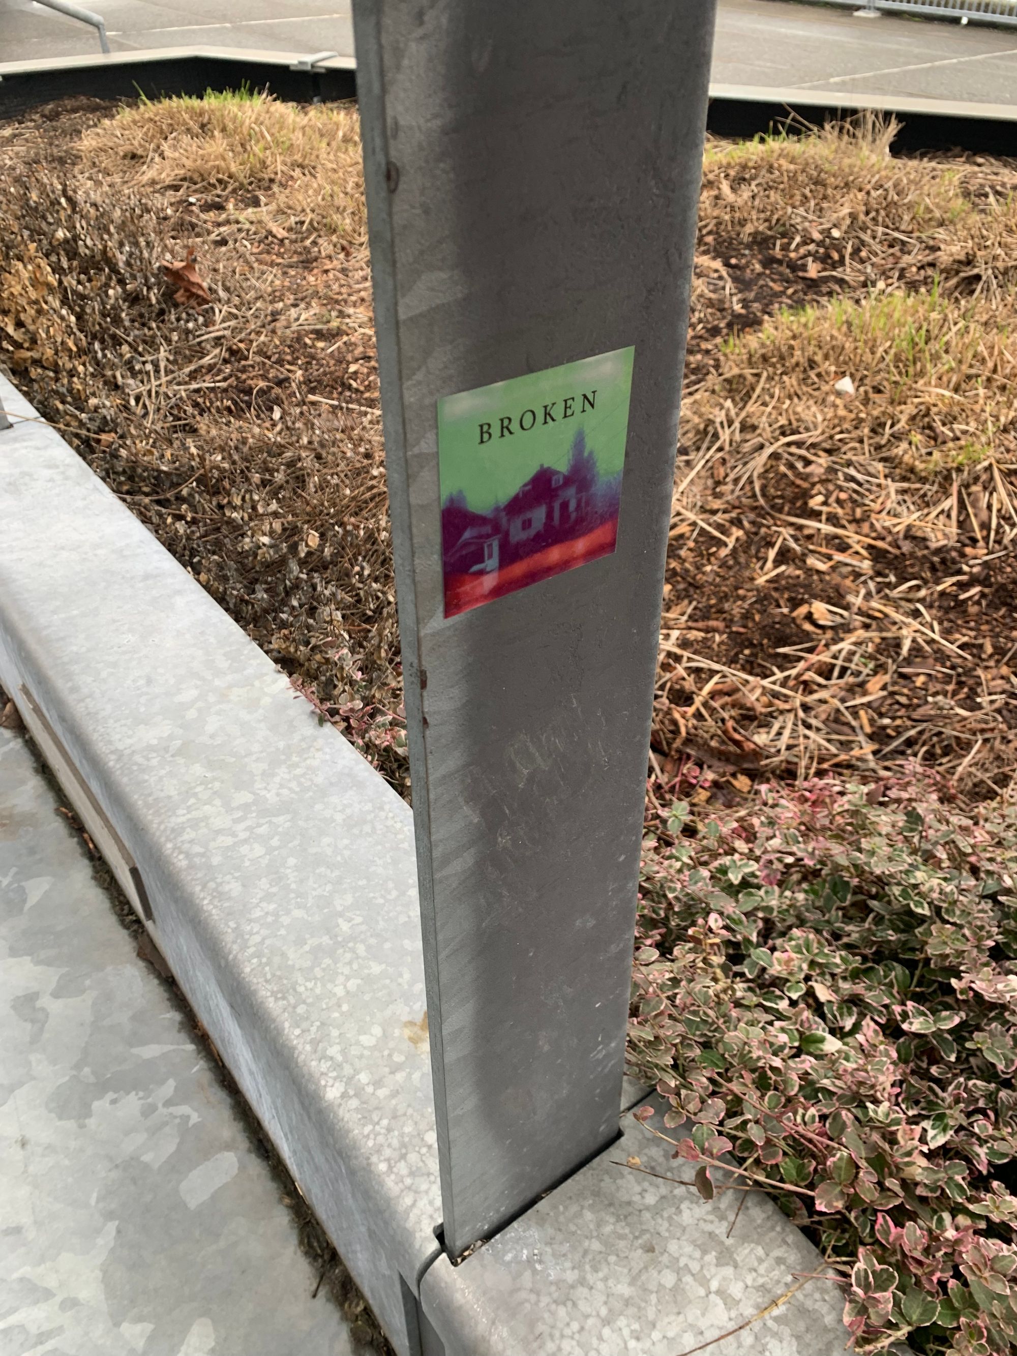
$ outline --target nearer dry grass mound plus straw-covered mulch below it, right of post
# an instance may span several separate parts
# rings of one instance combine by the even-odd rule
[[[666,614],[664,780],[682,753],[738,778],[918,757],[971,793],[1006,788],[1010,319],[984,300],[868,296],[724,346],[683,410],[698,454],[671,533],[670,609],[687,601]],[[845,376],[854,396],[835,391]]]

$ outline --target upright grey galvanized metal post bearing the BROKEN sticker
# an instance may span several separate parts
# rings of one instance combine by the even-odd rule
[[[617,1135],[715,0],[354,0],[446,1246]]]

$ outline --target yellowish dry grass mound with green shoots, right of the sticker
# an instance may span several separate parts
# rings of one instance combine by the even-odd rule
[[[929,540],[956,541],[967,525],[990,551],[997,538],[1009,545],[1017,533],[1017,298],[1003,300],[838,298],[784,312],[727,343],[715,376],[685,403],[683,435],[704,447],[696,479],[723,456],[738,492],[758,483],[773,456],[837,457],[861,468],[860,487],[885,484],[887,530],[906,518]],[[835,389],[845,377],[856,395]],[[686,494],[694,488],[689,481]]]

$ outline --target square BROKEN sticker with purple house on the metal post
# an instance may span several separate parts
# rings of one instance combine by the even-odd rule
[[[633,354],[438,401],[446,617],[612,555]]]

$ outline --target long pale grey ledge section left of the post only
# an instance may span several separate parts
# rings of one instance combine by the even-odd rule
[[[1,378],[0,403],[37,419]],[[54,430],[0,438],[0,682],[130,853],[180,987],[412,1352],[441,1193],[410,808]]]

